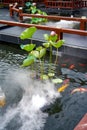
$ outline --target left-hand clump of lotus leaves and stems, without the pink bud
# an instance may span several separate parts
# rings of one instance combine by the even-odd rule
[[[31,42],[29,44],[20,45],[21,49],[28,52],[28,56],[26,59],[24,59],[21,67],[28,67],[30,65],[33,66],[33,63],[36,61],[36,59],[39,59],[40,72],[41,72],[41,75],[43,75],[43,62],[41,62],[41,59],[46,54],[46,48],[44,48],[42,46],[36,47],[36,44],[32,43],[32,36],[36,32],[36,30],[37,30],[36,27],[30,27],[30,28],[25,29],[20,35],[21,40],[31,38]],[[32,69],[33,69],[33,67],[32,67]]]

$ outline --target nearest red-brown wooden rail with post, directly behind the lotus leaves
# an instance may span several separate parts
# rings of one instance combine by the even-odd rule
[[[19,23],[19,22],[6,21],[6,20],[0,20],[0,24],[10,25],[10,26],[18,26],[18,27],[25,27],[25,28],[35,26],[37,29],[47,30],[47,31],[55,31],[58,34],[59,39],[63,39],[63,33],[87,36],[87,31],[84,31],[84,30],[55,28],[55,27],[49,27],[49,26],[44,26],[44,25]]]

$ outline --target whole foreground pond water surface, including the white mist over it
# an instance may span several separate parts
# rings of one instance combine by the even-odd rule
[[[59,57],[61,73],[56,69],[56,74],[70,80],[60,94],[52,83],[30,78],[28,68],[20,67],[25,57],[19,46],[0,44],[0,87],[6,96],[0,130],[73,130],[87,112],[87,92],[71,94],[75,88],[87,88],[87,60]]]

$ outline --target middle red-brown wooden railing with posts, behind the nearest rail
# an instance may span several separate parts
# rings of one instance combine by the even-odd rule
[[[10,16],[13,16],[13,12],[16,11],[19,13],[19,20],[22,21],[24,16],[27,17],[38,17],[38,18],[46,18],[46,19],[50,19],[50,20],[68,20],[68,21],[78,21],[80,23],[80,30],[86,30],[86,23],[87,23],[87,18],[85,16],[81,17],[81,18],[77,18],[77,17],[63,17],[63,16],[53,16],[53,15],[36,15],[36,14],[27,14],[27,13],[23,13],[22,8],[15,8],[14,6],[10,5],[9,6],[9,10],[10,10]]]

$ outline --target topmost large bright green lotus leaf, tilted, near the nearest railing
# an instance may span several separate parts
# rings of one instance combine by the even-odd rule
[[[32,38],[33,34],[36,32],[36,27],[30,27],[25,29],[21,35],[20,35],[20,39],[24,40],[24,39],[28,39],[28,38]]]

